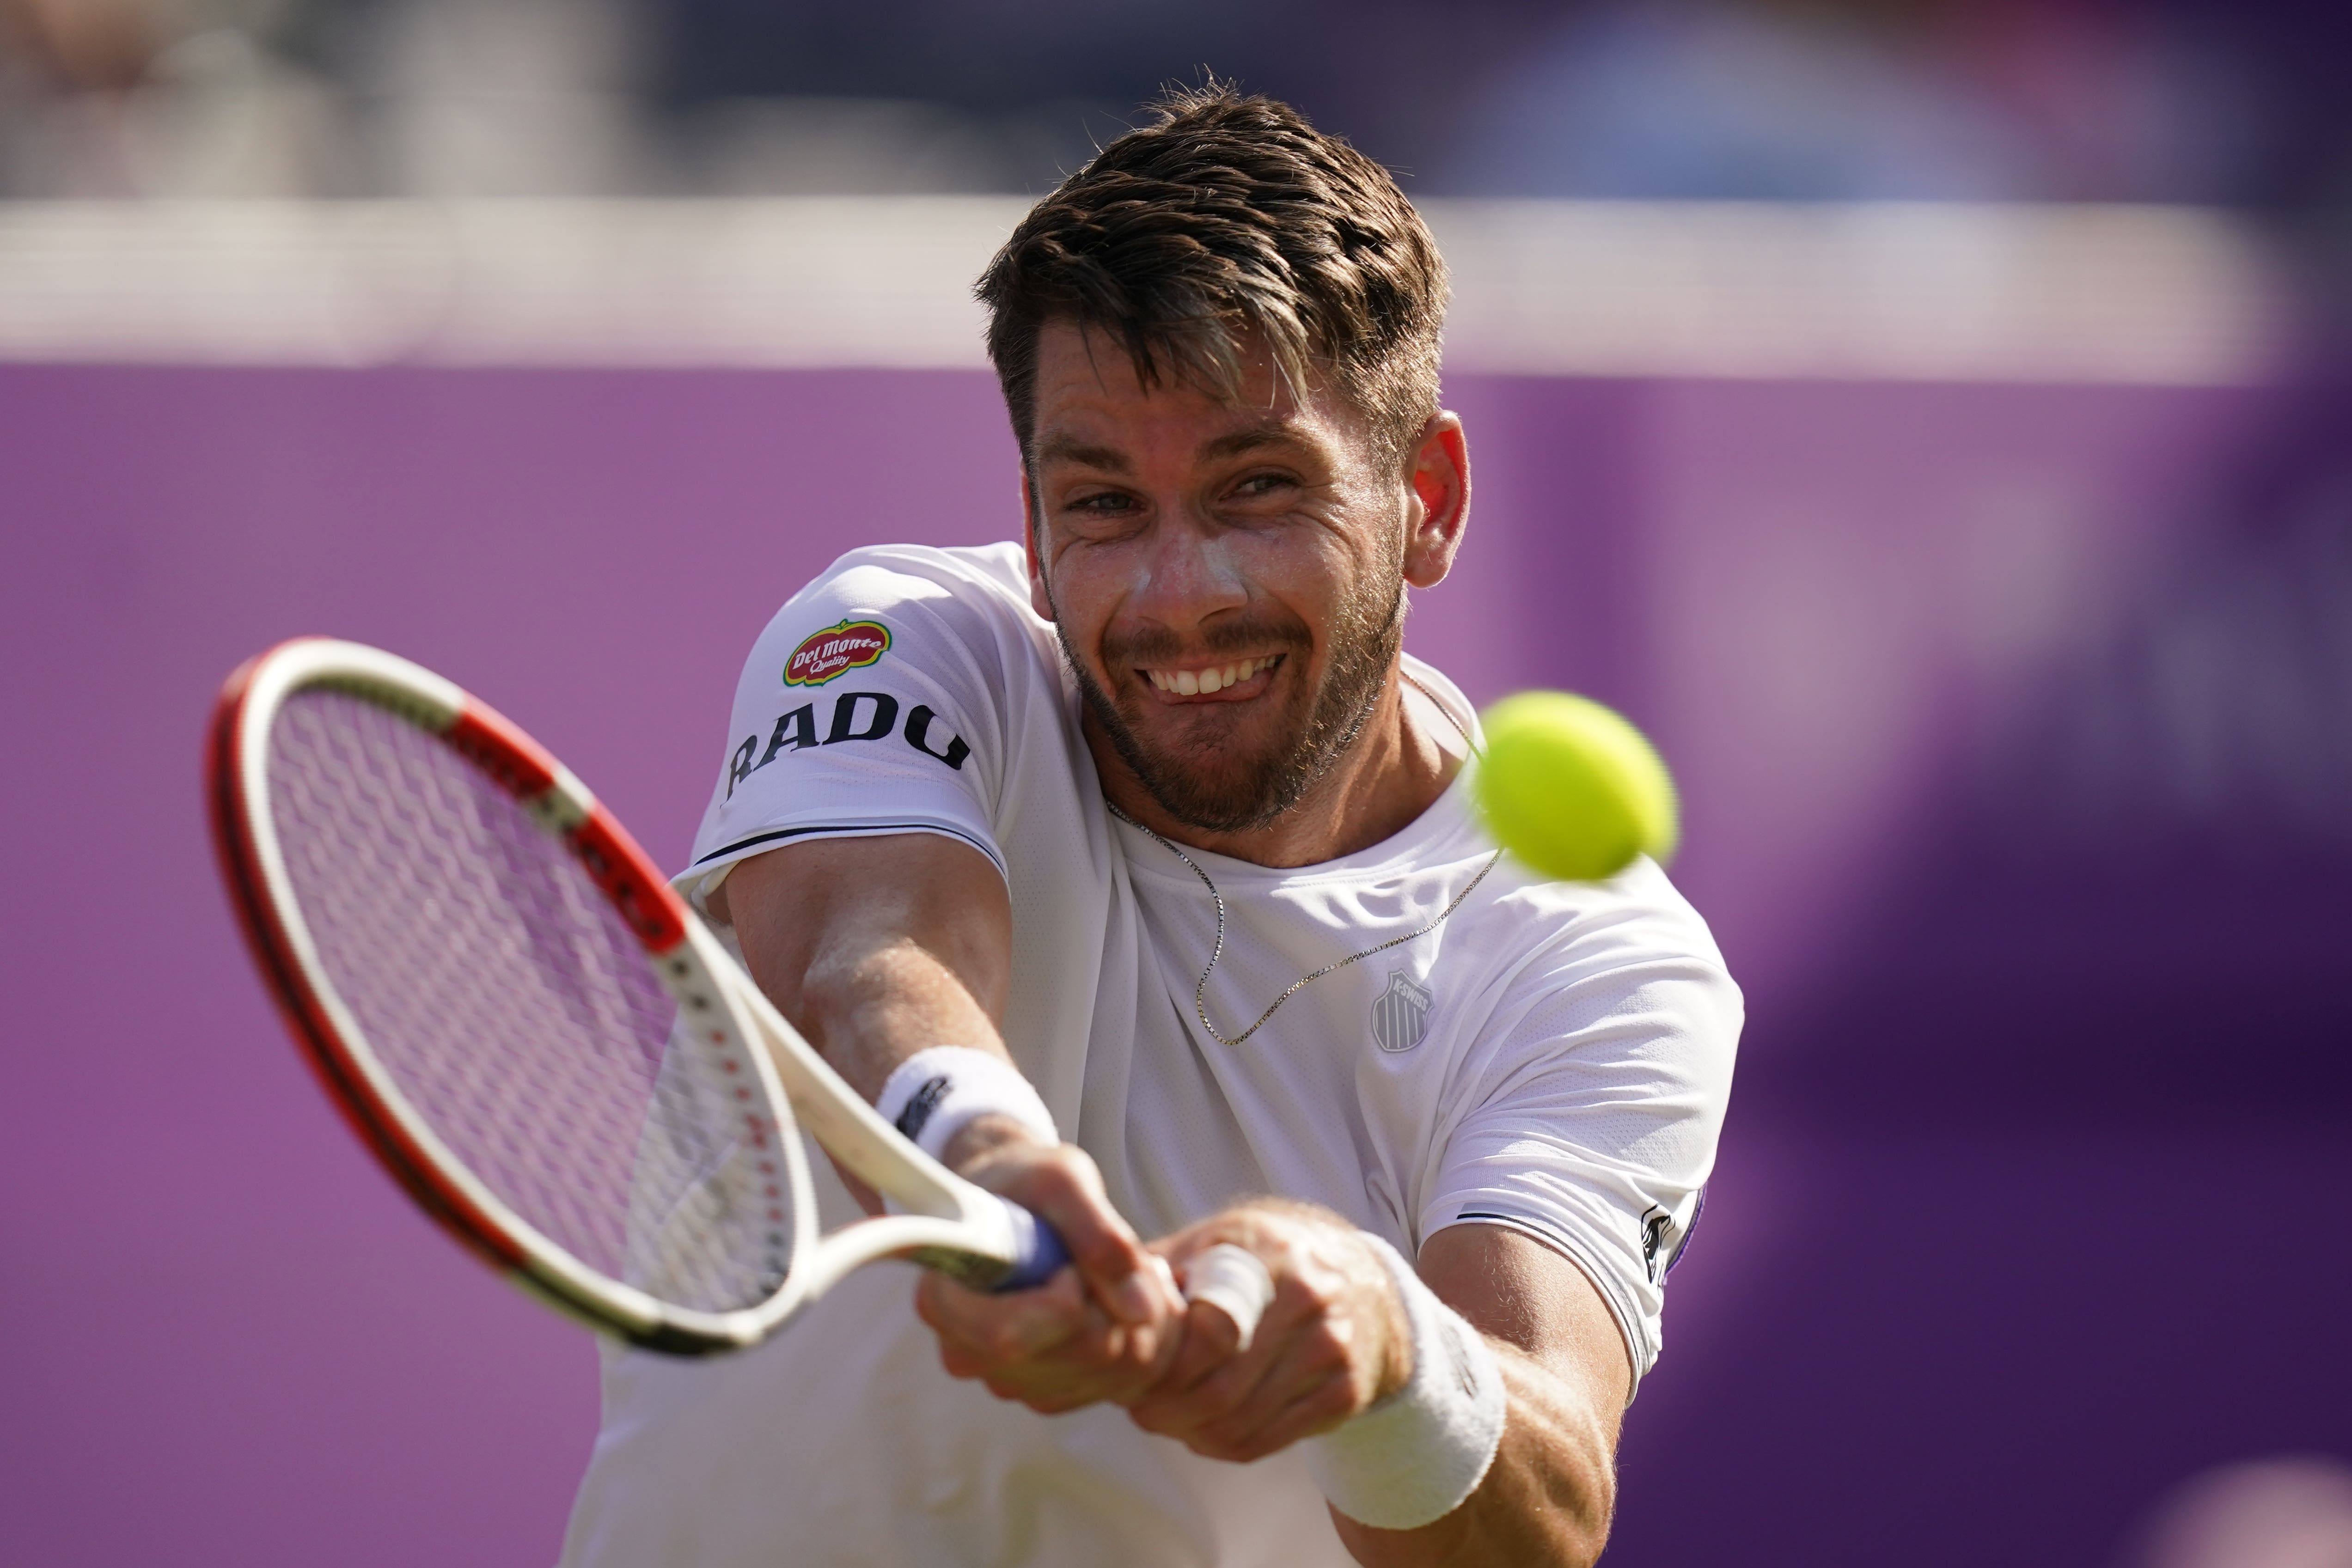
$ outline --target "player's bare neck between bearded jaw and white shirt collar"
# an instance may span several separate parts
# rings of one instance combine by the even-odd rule
[[[1110,804],[1167,839],[1256,865],[1319,865],[1371,849],[1428,811],[1461,769],[1406,705],[1402,661],[1388,665],[1371,717],[1338,762],[1289,811],[1242,832],[1178,823],[1134,776],[1091,710],[1082,726]]]

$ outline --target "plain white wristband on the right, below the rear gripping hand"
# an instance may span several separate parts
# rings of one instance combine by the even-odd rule
[[[1364,1241],[1395,1276],[1414,1326],[1414,1378],[1303,1448],[1331,1507],[1376,1530],[1411,1530],[1458,1509],[1486,1479],[1503,1446],[1503,1368],[1397,1248],[1369,1232]]]

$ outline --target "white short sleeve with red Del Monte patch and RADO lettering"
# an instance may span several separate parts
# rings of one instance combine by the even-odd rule
[[[701,903],[797,839],[938,832],[1004,870],[1007,686],[1035,682],[1016,545],[854,550],[776,611],[736,684],[677,877]]]

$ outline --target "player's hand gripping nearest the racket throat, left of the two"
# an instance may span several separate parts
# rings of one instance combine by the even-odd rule
[[[1047,1415],[1127,1403],[1150,1387],[1176,1356],[1183,1300],[1167,1262],[1143,1251],[1103,1197],[1094,1159],[983,1117],[948,1145],[948,1166],[1037,1211],[1073,1258],[1044,1286],[1009,1295],[924,1274],[915,1312],[938,1335],[948,1373]]]

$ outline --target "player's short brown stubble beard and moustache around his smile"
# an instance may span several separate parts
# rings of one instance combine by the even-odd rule
[[[1362,736],[1388,686],[1388,670],[1404,646],[1404,583],[1392,576],[1388,581],[1395,583],[1388,595],[1378,588],[1381,578],[1374,578],[1341,602],[1331,623],[1331,665],[1322,684],[1308,691],[1294,682],[1291,712],[1263,724],[1270,741],[1256,755],[1240,755],[1237,743],[1223,733],[1176,745],[1148,741],[1087,670],[1061,618],[1054,621],[1054,635],[1094,722],[1103,726],[1120,762],[1134,771],[1160,809],[1200,832],[1249,832],[1296,806]],[[1204,642],[1211,656],[1263,654],[1277,646],[1284,654],[1277,677],[1291,661],[1303,665],[1312,651],[1312,637],[1296,621],[1218,625]],[[1110,670],[1171,663],[1183,651],[1174,637],[1105,639],[1103,663]],[[1143,701],[1148,698],[1138,698],[1136,705]],[[1216,708],[1202,705],[1197,712]]]

